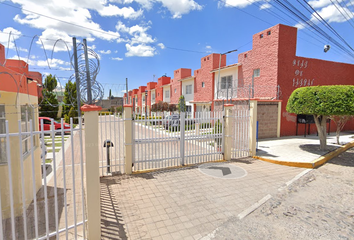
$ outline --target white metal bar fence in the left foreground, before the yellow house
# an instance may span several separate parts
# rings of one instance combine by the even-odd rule
[[[82,121],[74,128],[51,123],[51,130],[22,132],[21,121],[5,123],[0,142],[0,239],[86,238]],[[10,131],[17,129],[16,132]],[[26,139],[28,143],[24,143]],[[28,151],[23,146],[28,145]],[[49,156],[51,155],[51,156]]]

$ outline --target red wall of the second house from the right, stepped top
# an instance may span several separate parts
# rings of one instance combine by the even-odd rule
[[[210,54],[202,57],[201,68],[194,71],[194,101],[212,102],[214,99],[214,73],[210,71],[219,68],[220,54]],[[221,67],[226,66],[226,55],[221,57]],[[205,87],[202,87],[204,82]],[[212,106],[213,108],[213,106]]]

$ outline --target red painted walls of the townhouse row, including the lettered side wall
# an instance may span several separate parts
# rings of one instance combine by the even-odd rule
[[[295,135],[296,115],[286,112],[286,104],[291,93],[298,87],[317,85],[353,85],[354,65],[330,62],[296,56],[297,29],[286,25],[276,25],[253,35],[252,50],[238,55],[237,99],[281,100],[281,136]],[[219,68],[220,54],[210,54],[201,58],[201,68],[194,71],[194,99],[192,103],[220,105],[214,96],[214,74]],[[231,66],[231,65],[229,65]],[[226,66],[226,55],[222,55],[220,67]],[[214,72],[213,72],[214,70]],[[191,69],[180,68],[174,77],[162,76],[155,87],[155,102],[163,100],[163,85],[171,83],[170,103],[177,104],[181,95],[181,79],[191,76]],[[204,83],[204,87],[202,87]],[[254,86],[253,96],[249,89]],[[176,89],[176,92],[175,92]],[[243,89],[242,91],[240,89]],[[148,104],[151,104],[150,98]],[[194,106],[194,109],[196,107]],[[304,126],[299,125],[299,132]],[[345,129],[353,129],[354,123]],[[311,130],[315,131],[315,127]],[[332,130],[334,127],[332,126]]]

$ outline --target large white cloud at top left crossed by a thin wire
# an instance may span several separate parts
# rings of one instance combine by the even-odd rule
[[[27,11],[22,11],[22,14],[17,14],[14,17],[15,22],[42,29],[43,33],[41,37],[44,38],[44,36],[48,37],[50,35],[54,40],[58,38],[66,39],[70,36],[87,38],[88,41],[93,41],[95,38],[107,41],[119,39],[120,35],[118,32],[105,31],[98,23],[94,22],[89,10],[97,11],[103,16],[122,16],[134,19],[142,14],[142,11],[135,11],[131,7],[119,9],[115,5],[105,5],[105,1],[96,0],[13,0],[13,2],[20,4],[26,10],[60,19],[62,22]],[[84,28],[77,27],[76,25]],[[69,42],[71,42],[71,39]],[[40,44],[39,42],[37,43]],[[48,49],[48,43],[45,45],[46,49]],[[56,51],[63,51],[64,49],[61,47]]]

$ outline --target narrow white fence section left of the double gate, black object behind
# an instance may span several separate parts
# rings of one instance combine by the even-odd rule
[[[99,116],[100,175],[124,173],[124,119],[121,114]]]

